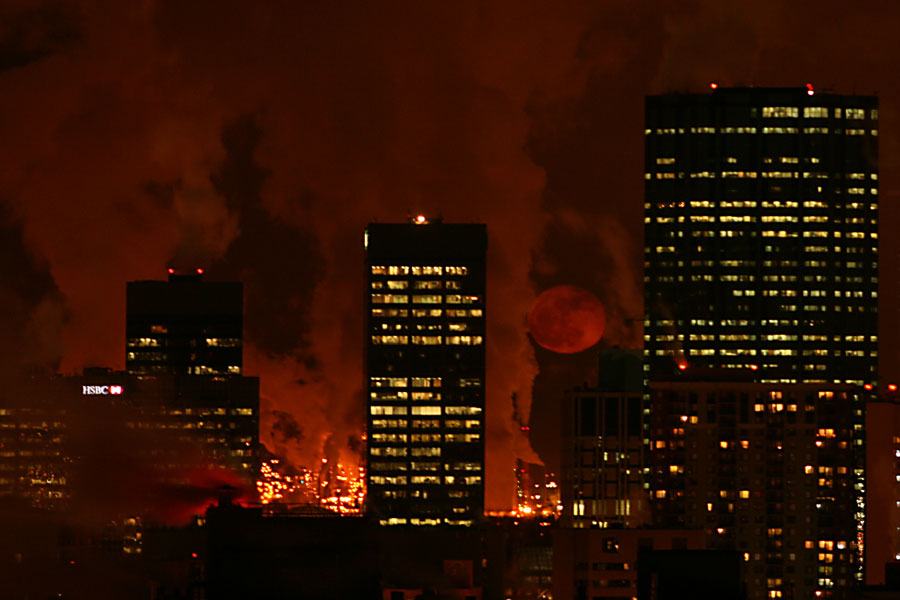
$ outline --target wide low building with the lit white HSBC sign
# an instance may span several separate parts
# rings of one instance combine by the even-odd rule
[[[12,385],[0,395],[0,497],[34,506],[64,504],[73,484],[83,493],[95,479],[114,482],[117,469],[125,480],[141,473],[132,485],[155,492],[198,485],[200,472],[227,472],[252,488],[258,448],[255,377],[86,369]],[[101,468],[111,472],[100,476]],[[157,501],[167,502],[165,494]]]

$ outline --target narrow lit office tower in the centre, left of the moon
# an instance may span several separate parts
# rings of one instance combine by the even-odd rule
[[[470,526],[484,512],[484,225],[366,231],[368,511]]]

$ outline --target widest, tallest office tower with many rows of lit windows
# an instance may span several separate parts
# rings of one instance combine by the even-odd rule
[[[877,98],[711,87],[646,102],[651,377],[874,383]]]

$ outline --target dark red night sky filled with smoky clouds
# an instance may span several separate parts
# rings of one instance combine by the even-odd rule
[[[261,440],[304,464],[361,431],[366,223],[483,222],[487,506],[554,465],[554,390],[593,355],[532,347],[555,284],[640,345],[643,105],[720,85],[880,97],[881,358],[897,372],[895,2],[0,3],[0,376],[124,367],[125,282],[245,284]],[[327,442],[327,443],[326,443]],[[555,466],[555,465],[554,465]]]

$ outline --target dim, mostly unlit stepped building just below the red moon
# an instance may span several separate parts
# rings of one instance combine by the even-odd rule
[[[604,350],[596,389],[562,404],[564,527],[637,527],[650,521],[650,410],[640,351]]]

